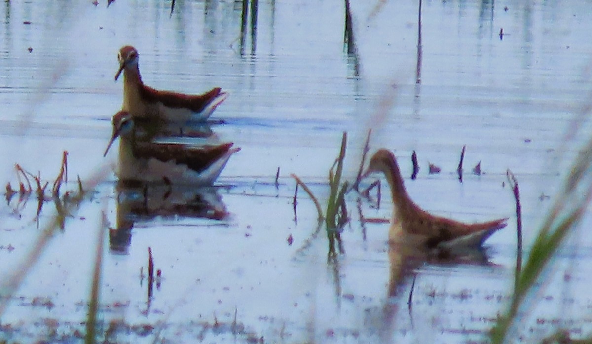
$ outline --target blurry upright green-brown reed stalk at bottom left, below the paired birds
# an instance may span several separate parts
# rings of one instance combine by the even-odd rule
[[[92,269],[91,295],[86,316],[86,335],[84,342],[94,344],[96,336],[96,314],[99,311],[99,290],[101,285],[101,267],[103,257],[103,237],[107,228],[107,216],[102,213],[101,224],[96,237],[95,264]]]

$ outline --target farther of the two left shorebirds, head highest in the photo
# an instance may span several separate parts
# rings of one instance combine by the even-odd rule
[[[130,112],[134,119],[151,118],[165,123],[205,121],[228,96],[218,87],[199,95],[158,91],[142,82],[139,56],[134,47],[121,48],[117,59],[120,66],[115,81],[123,72],[122,109]]]

